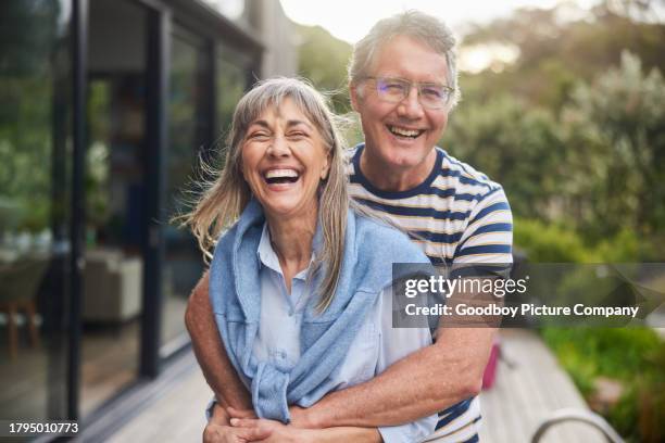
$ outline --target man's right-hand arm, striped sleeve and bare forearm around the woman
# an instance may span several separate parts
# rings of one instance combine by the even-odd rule
[[[513,219],[503,190],[489,192],[469,217],[454,263],[512,263]],[[488,244],[494,245],[491,251],[479,251]],[[478,258],[478,252],[485,255]],[[439,328],[435,344],[397,362],[373,380],[332,392],[306,410],[294,408],[293,423],[308,428],[399,425],[477,395],[497,333],[489,327],[497,325],[495,319],[482,325]]]

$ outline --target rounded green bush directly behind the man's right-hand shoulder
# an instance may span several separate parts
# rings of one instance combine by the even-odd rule
[[[506,94],[466,102],[451,115],[440,144],[501,182],[517,215],[550,218],[550,201],[567,174],[552,113]]]

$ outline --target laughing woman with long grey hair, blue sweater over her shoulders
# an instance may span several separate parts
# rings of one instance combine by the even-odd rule
[[[392,263],[427,257],[403,233],[350,208],[346,181],[322,96],[298,79],[271,79],[238,103],[225,167],[188,223],[204,252],[222,236],[211,302],[271,439],[415,442],[436,417],[378,430],[281,425],[290,405],[311,406],[430,343],[427,329],[393,329],[382,296]],[[241,430],[224,428],[224,439],[244,441]]]

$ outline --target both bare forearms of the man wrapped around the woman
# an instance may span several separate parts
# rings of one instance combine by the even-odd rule
[[[208,283],[204,275],[187,307],[195,354],[221,404],[250,409],[249,393],[219,339]],[[452,406],[480,391],[493,334],[489,328],[442,328],[435,344],[399,360],[378,377],[331,392],[308,409],[292,408],[292,423],[302,428],[400,425]]]

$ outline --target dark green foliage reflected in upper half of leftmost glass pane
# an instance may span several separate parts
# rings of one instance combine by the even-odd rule
[[[61,13],[52,1],[0,5],[0,231],[38,232],[64,214],[53,169],[64,168],[66,134],[52,129],[68,118]]]

